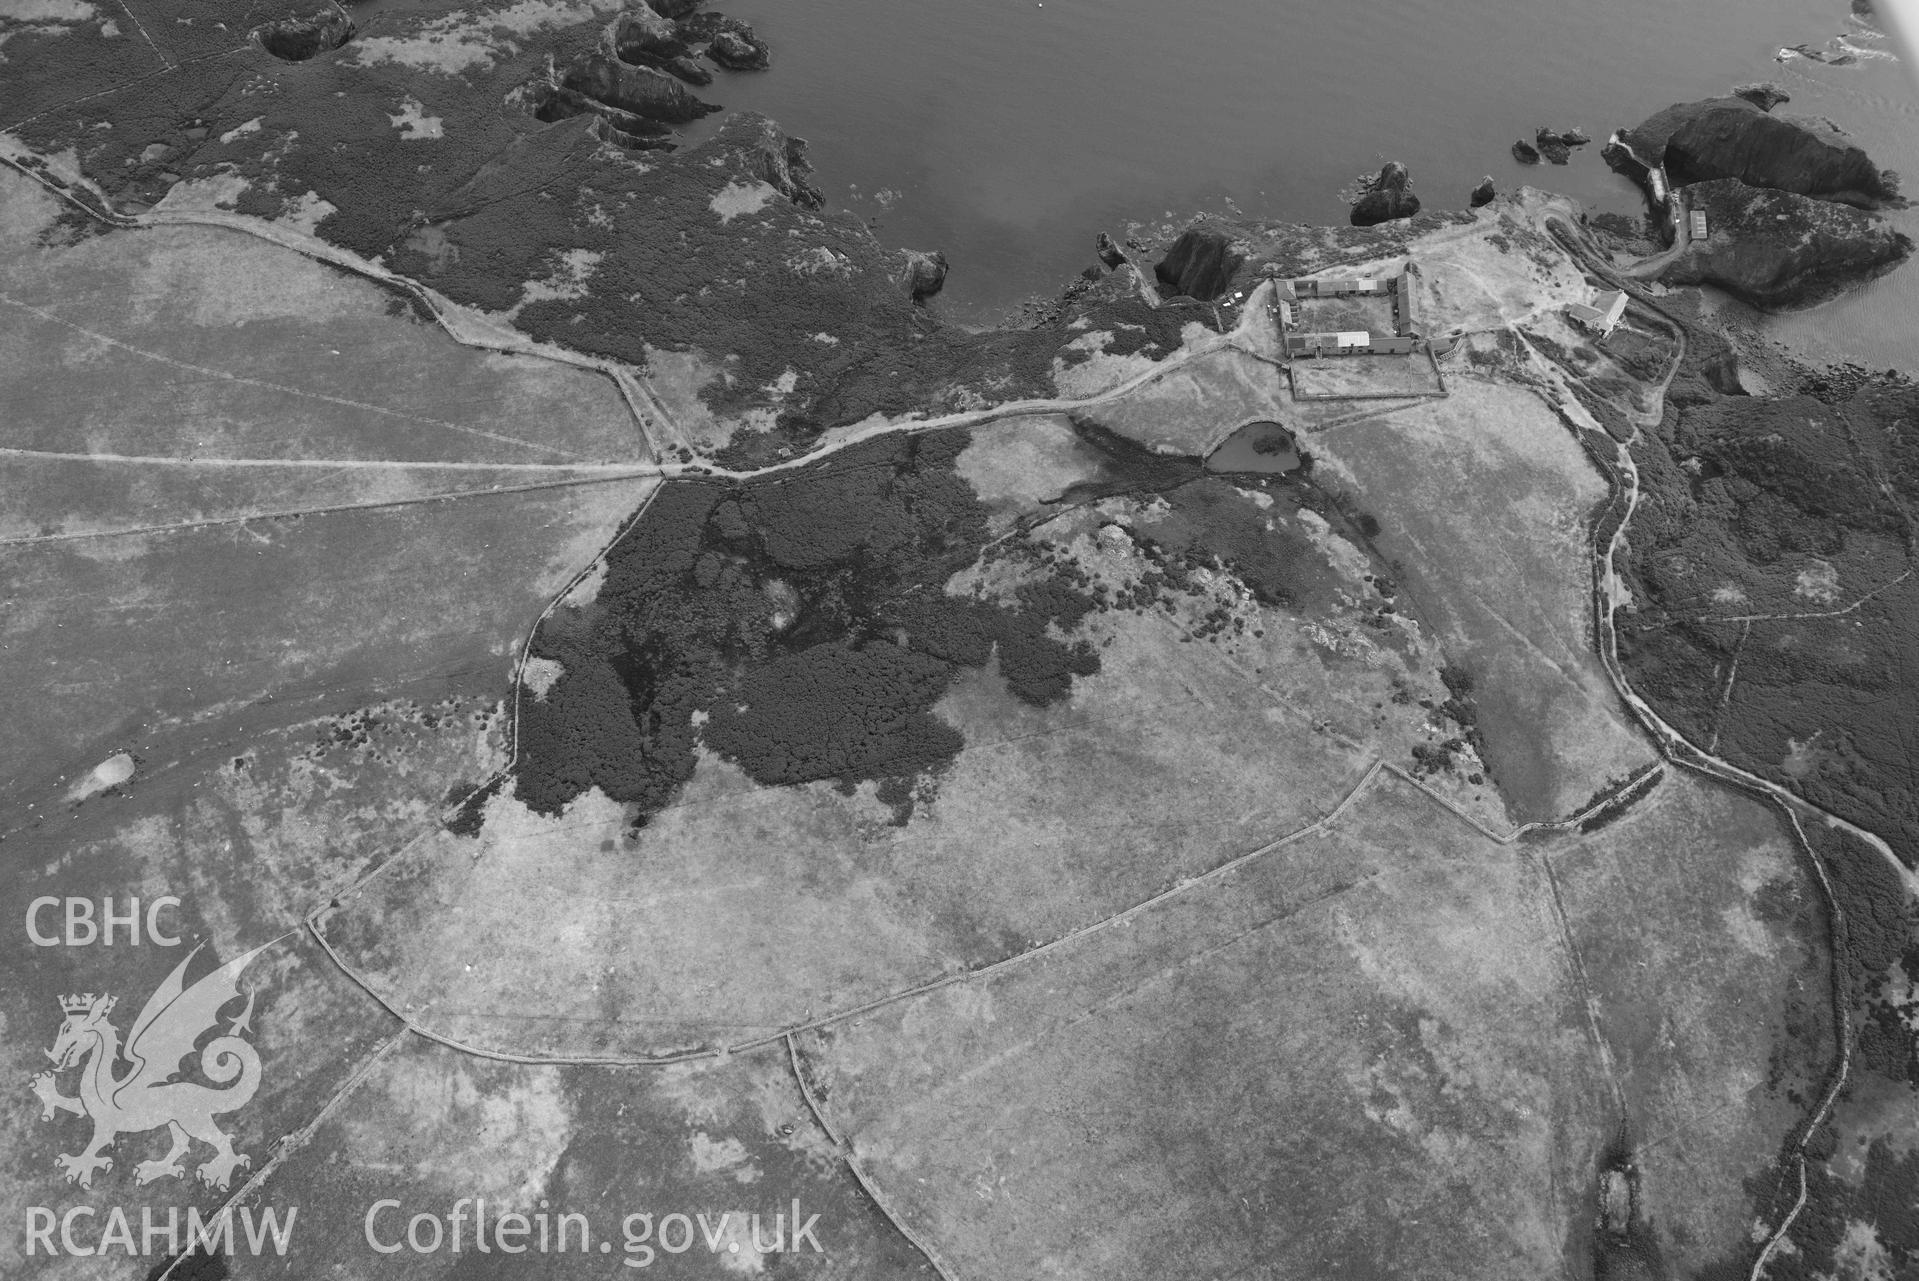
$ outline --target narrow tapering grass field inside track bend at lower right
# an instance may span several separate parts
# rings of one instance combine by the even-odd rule
[[[1683,771],[1539,851],[1639,1139],[1641,1197],[1675,1275],[1696,1275],[1748,1239],[1733,1172],[1764,1172],[1825,1085],[1819,886],[1769,807]]]

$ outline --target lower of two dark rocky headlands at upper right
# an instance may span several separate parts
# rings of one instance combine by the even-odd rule
[[[1810,196],[1714,178],[1685,188],[1710,234],[1660,276],[1716,284],[1765,309],[1817,303],[1911,257],[1913,242],[1883,219]]]

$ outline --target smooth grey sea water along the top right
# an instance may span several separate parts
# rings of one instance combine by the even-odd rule
[[[1481,175],[1639,213],[1599,159],[1614,128],[1746,81],[1827,115],[1919,196],[1919,98],[1846,0],[710,0],[773,48],[702,94],[810,142],[831,203],[890,245],[942,249],[938,311],[1002,318],[1094,261],[1094,234],[1194,213],[1338,222],[1405,161],[1435,209]],[[1812,44],[1852,65],[1806,58]],[[1850,46],[1850,48],[1848,48]],[[718,121],[718,117],[714,117]],[[1566,167],[1516,138],[1581,127]],[[706,123],[700,132],[710,132]],[[697,136],[697,134],[695,134]],[[1896,215],[1919,238],[1919,215]],[[1777,330],[1821,355],[1919,366],[1919,265]]]

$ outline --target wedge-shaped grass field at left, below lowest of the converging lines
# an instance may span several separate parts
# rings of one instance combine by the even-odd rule
[[[499,694],[530,619],[651,485],[0,548],[17,731],[0,773],[33,796],[261,702]]]

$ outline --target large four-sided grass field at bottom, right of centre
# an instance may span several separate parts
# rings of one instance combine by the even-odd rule
[[[1604,1131],[1543,874],[1397,782],[802,1047],[960,1275],[1560,1275]]]

